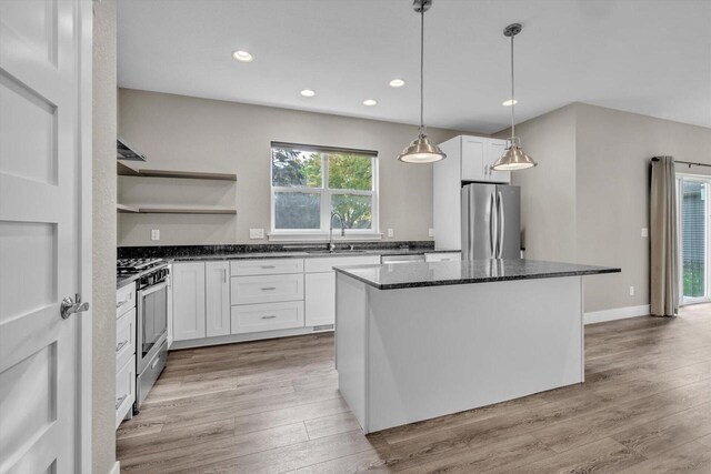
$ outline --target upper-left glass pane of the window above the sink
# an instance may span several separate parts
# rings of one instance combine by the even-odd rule
[[[271,183],[284,188],[321,188],[321,155],[312,151],[271,150]]]

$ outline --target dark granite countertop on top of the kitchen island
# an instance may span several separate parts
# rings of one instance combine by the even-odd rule
[[[612,266],[591,266],[537,260],[414,262],[348,268],[337,266],[334,270],[379,290],[595,275],[621,271]]]

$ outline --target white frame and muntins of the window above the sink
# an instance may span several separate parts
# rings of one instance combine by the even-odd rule
[[[291,188],[273,185],[273,149],[288,148],[300,151],[312,151],[321,158],[321,186],[320,188]],[[270,241],[322,241],[329,239],[329,221],[331,218],[333,195],[368,195],[371,198],[371,229],[346,229],[346,236],[341,236],[338,221],[333,225],[333,240],[380,240],[380,205],[379,205],[379,157],[378,152],[370,150],[340,149],[336,147],[313,147],[299,143],[272,142],[269,148],[269,185],[270,185]],[[370,191],[364,190],[341,190],[329,188],[329,162],[331,153],[352,153],[369,157],[372,167],[372,182]],[[320,206],[320,229],[277,229],[276,228],[276,196],[277,193],[301,193],[319,194],[321,196]]]

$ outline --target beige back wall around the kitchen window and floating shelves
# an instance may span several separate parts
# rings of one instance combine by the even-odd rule
[[[120,246],[267,243],[249,240],[249,229],[269,232],[271,141],[377,150],[381,231],[393,229],[393,240],[431,240],[432,165],[397,159],[417,127],[128,89],[119,90],[119,105],[121,137],[149,158],[141,167],[238,174],[237,184],[152,180],[153,188],[121,178],[120,202],[206,199],[236,205],[238,215],[120,214]],[[434,142],[462,133],[428,132]],[[161,231],[159,242],[151,229]]]

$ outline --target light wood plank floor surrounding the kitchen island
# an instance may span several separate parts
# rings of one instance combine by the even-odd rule
[[[587,326],[584,384],[364,436],[333,337],[170,353],[121,472],[711,473],[711,306]]]

